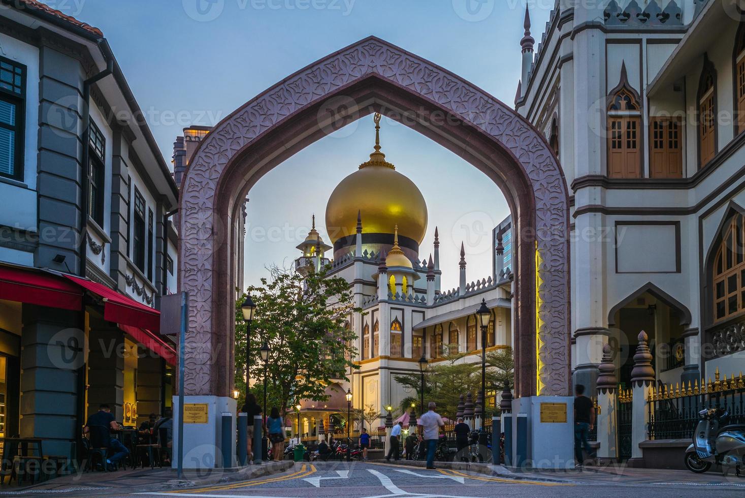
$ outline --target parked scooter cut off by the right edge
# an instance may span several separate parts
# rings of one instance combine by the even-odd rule
[[[725,409],[703,409],[694,431],[694,442],[685,450],[685,467],[691,472],[704,473],[711,464],[720,464],[726,476],[735,469],[739,476],[745,464],[745,424],[720,428],[727,417]]]

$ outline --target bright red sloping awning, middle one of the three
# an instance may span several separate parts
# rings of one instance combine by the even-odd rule
[[[72,275],[65,275],[65,277],[104,298],[104,320],[155,332],[160,331],[160,312],[157,309],[138,303],[131,297],[119,294],[100,283]]]

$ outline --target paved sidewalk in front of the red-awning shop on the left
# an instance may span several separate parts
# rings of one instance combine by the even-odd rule
[[[265,461],[261,465],[247,465],[234,469],[210,469],[201,472],[185,470],[183,479],[178,479],[176,470],[170,467],[74,473],[35,485],[3,485],[0,487],[0,497],[64,493],[98,496],[99,494],[116,494],[117,491],[121,492],[124,489],[127,489],[128,493],[133,490],[165,491],[223,482],[246,481],[282,473],[292,467],[294,467],[293,461]]]

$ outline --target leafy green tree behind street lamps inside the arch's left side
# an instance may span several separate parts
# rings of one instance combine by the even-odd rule
[[[288,268],[270,268],[270,278],[247,292],[256,303],[251,323],[250,376],[259,404],[263,397],[264,363],[261,344],[271,351],[267,362],[267,410],[285,411],[298,400],[325,401],[326,386],[347,379],[357,368],[351,359],[354,332],[345,327],[346,315],[359,312],[346,280],[329,277],[330,267],[302,277]],[[245,368],[246,326],[236,303],[235,386],[242,391]],[[239,399],[239,402],[241,400]]]

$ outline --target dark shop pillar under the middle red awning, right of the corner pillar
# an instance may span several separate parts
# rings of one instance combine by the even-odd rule
[[[91,317],[88,335],[89,413],[107,404],[115,420],[124,420],[124,332]]]

